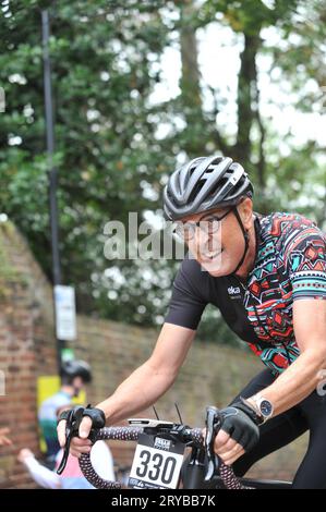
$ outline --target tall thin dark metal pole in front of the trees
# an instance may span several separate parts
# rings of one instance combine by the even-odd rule
[[[59,253],[59,227],[58,227],[58,169],[53,166],[55,151],[55,130],[52,109],[52,85],[51,85],[51,62],[49,56],[50,22],[49,11],[41,11],[41,33],[43,33],[43,61],[44,61],[44,88],[45,88],[45,110],[46,110],[46,136],[49,169],[49,196],[50,196],[50,227],[52,247],[52,273],[53,285],[61,283],[61,267]],[[55,312],[56,319],[56,312]],[[57,319],[56,319],[57,321]],[[57,340],[58,367],[61,367],[61,350],[64,346],[63,340]]]

